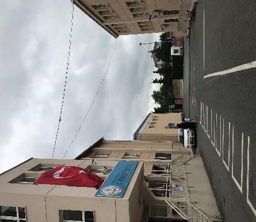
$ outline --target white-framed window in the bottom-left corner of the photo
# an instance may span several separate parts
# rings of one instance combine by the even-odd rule
[[[15,206],[0,206],[0,221],[26,221],[25,208]]]

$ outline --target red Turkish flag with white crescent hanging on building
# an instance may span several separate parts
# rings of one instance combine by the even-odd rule
[[[101,179],[96,174],[90,173],[80,167],[59,166],[41,174],[33,184],[85,186],[98,189],[103,181],[104,179]]]

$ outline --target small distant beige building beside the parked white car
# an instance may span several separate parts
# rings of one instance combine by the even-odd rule
[[[178,141],[180,113],[149,113],[133,134],[134,140]]]

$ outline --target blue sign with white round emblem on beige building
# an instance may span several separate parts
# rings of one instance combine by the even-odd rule
[[[119,161],[108,178],[102,183],[95,196],[123,197],[137,163],[137,161]]]

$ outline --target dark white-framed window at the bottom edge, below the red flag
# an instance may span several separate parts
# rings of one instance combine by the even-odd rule
[[[60,221],[81,221],[81,222],[93,222],[93,211],[80,211],[80,210],[60,210]]]

